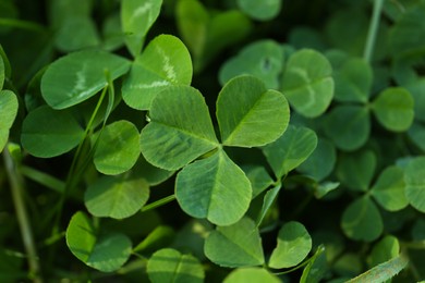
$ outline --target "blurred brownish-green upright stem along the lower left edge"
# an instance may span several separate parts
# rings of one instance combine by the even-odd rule
[[[24,180],[16,170],[15,163],[9,152],[8,147],[3,149],[3,160],[8,174],[10,187],[12,190],[13,205],[16,210],[16,218],[21,230],[22,242],[27,254],[29,275],[34,282],[42,282],[40,276],[40,266],[37,256],[37,249],[34,242],[33,230],[29,224],[28,213],[24,201]]]

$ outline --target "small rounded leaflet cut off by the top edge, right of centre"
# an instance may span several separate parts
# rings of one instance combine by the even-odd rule
[[[236,0],[239,8],[257,21],[269,21],[276,17],[281,9],[282,0]]]

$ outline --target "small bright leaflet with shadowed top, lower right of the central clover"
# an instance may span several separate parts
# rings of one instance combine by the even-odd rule
[[[286,223],[278,235],[278,245],[271,253],[268,266],[275,269],[299,264],[312,249],[312,237],[300,222]]]

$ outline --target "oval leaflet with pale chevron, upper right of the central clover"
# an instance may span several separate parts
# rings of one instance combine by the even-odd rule
[[[303,49],[289,58],[282,77],[282,93],[300,114],[323,114],[333,97],[332,67],[321,53]]]

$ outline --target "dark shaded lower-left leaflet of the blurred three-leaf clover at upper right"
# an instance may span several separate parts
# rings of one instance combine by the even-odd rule
[[[338,106],[325,119],[325,133],[342,150],[352,151],[363,146],[371,133],[367,108]]]

